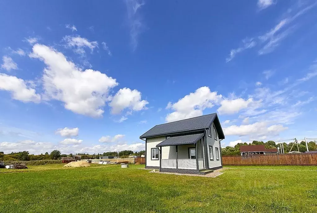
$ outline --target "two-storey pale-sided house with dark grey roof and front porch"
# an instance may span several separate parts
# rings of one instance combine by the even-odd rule
[[[217,113],[156,125],[140,139],[146,143],[146,168],[194,174],[222,168]]]

